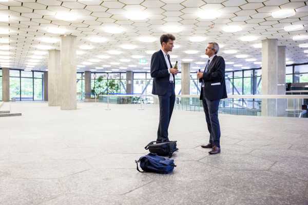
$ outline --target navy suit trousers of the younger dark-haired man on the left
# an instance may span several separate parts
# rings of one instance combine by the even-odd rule
[[[169,141],[168,127],[175,106],[176,94],[175,85],[169,83],[167,92],[164,95],[158,95],[159,98],[159,125],[157,131],[157,141]]]

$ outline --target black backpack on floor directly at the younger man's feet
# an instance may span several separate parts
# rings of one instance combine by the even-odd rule
[[[149,150],[150,153],[154,153],[159,156],[168,156],[169,158],[172,156],[172,153],[179,150],[177,148],[177,141],[167,141],[161,143],[151,141],[147,146],[145,146],[144,149]]]

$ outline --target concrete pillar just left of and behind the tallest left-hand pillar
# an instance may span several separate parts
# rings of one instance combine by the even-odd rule
[[[59,50],[49,50],[48,106],[61,106],[61,61]]]

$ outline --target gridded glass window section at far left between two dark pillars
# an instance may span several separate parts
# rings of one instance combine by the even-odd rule
[[[44,72],[10,70],[10,98],[43,100]]]

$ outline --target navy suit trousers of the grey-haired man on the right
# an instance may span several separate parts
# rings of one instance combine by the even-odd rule
[[[207,129],[209,132],[209,143],[220,147],[220,126],[218,120],[218,100],[208,100],[203,97],[202,104],[205,113]]]

